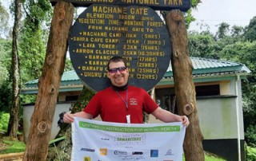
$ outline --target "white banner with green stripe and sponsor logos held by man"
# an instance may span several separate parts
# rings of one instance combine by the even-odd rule
[[[74,161],[182,161],[182,123],[119,124],[75,118]]]

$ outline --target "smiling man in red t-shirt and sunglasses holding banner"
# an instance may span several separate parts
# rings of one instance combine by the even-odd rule
[[[74,116],[93,119],[100,115],[103,121],[142,124],[144,111],[163,122],[182,122],[186,127],[190,124],[186,116],[159,108],[144,89],[129,85],[129,70],[122,57],[112,57],[107,68],[111,86],[97,92],[82,112],[66,112],[65,123],[74,122]]]

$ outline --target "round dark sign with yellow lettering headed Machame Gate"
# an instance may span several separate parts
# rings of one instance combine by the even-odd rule
[[[154,87],[170,64],[170,36],[162,19],[142,6],[94,4],[79,15],[69,37],[70,58],[84,84],[99,91],[110,86],[107,62],[128,62],[129,84]]]

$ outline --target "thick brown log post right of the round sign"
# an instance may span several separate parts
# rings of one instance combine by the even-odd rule
[[[183,145],[185,158],[188,161],[202,161],[205,160],[202,147],[203,136],[199,126],[195,88],[192,81],[193,66],[189,57],[186,25],[182,12],[172,10],[166,14],[166,26],[172,43],[171,62],[178,113],[190,119]]]

